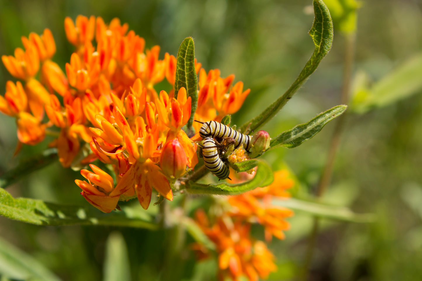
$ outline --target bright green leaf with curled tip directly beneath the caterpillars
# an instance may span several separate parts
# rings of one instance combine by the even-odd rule
[[[238,172],[245,172],[257,167],[254,178],[241,184],[197,184],[189,181],[186,191],[195,194],[216,194],[216,195],[237,195],[259,187],[264,187],[274,181],[273,171],[267,163],[252,159],[240,163],[231,164],[233,169]]]

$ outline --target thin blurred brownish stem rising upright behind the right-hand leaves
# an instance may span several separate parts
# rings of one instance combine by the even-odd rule
[[[351,33],[345,36],[346,48],[344,51],[344,70],[343,70],[343,85],[341,89],[340,101],[342,104],[347,104],[349,101],[350,86],[352,83],[352,70],[354,62],[354,51],[356,46],[356,34]],[[325,167],[322,170],[321,178],[319,179],[315,195],[317,198],[322,197],[330,184],[333,176],[333,168],[335,158],[337,156],[338,147],[340,146],[341,134],[346,120],[346,114],[342,114],[338,117],[335,123],[333,135],[330,140],[330,148],[327,154],[327,161]],[[304,259],[303,273],[301,274],[300,280],[306,281],[309,276],[309,269],[312,263],[314,255],[315,245],[317,243],[317,236],[319,230],[319,217],[314,217],[314,223],[311,234],[308,239],[308,246],[306,250],[306,257]]]

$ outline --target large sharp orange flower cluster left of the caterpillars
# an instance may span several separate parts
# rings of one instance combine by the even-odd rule
[[[99,159],[113,168],[116,184],[95,165],[92,172],[81,170],[87,181],[76,180],[81,194],[103,212],[133,197],[146,209],[152,189],[172,200],[172,184],[198,161],[196,146],[181,129],[192,113],[191,97],[184,88],[177,99],[173,89],[154,88],[165,78],[174,85],[176,57],[159,59],[160,46],[145,49],[145,40],[128,29],[119,19],[106,24],[100,17],[67,17],[65,32],[75,51],[65,71],[51,60],[56,45],[48,29],[22,37],[24,49],[2,56],[22,81],[8,81],[0,96],[0,111],[16,118],[20,143],[41,142],[48,128],[57,132],[50,146],[57,147],[63,167]],[[195,68],[195,119],[219,121],[238,111],[249,89],[243,91],[242,82],[231,86],[233,75],[207,74],[200,63]]]

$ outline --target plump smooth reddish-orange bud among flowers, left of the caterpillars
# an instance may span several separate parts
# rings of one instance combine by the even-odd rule
[[[186,172],[187,157],[179,140],[169,140],[162,148],[160,167],[169,178],[179,178]]]

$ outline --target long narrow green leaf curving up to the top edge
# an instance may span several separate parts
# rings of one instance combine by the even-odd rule
[[[325,6],[322,0],[314,0],[314,13],[314,25],[309,31],[309,35],[311,35],[315,44],[315,51],[311,58],[290,88],[268,106],[268,108],[265,108],[260,115],[243,124],[240,127],[241,132],[246,134],[256,132],[259,127],[271,120],[283,108],[287,101],[295,95],[300,86],[317,69],[321,59],[330,51],[331,44],[333,43],[333,22],[331,21],[330,11],[328,11],[327,6]]]

